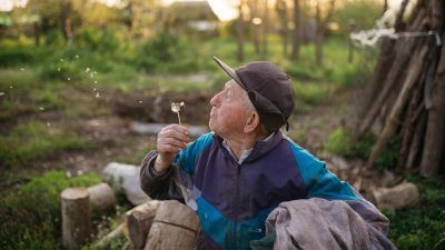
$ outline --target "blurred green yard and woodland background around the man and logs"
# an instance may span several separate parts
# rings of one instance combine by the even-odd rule
[[[0,248],[61,249],[60,191],[99,183],[109,162],[139,166],[159,126],[177,122],[172,101],[207,131],[228,80],[215,54],[284,69],[297,97],[287,136],[382,209],[399,249],[445,249],[437,2],[1,0]],[[85,249],[129,208],[96,216]]]

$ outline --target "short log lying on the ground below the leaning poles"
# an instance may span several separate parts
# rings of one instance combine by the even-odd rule
[[[403,182],[394,188],[382,188],[373,191],[379,209],[396,210],[418,202],[419,194],[415,184]]]

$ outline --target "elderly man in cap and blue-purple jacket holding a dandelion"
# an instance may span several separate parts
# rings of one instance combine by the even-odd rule
[[[373,214],[378,210],[280,132],[295,106],[285,72],[270,62],[235,71],[215,60],[231,80],[210,100],[212,132],[189,142],[186,127],[165,127],[140,172],[151,198],[178,199],[197,212],[198,249],[251,248],[284,201],[345,200],[354,210],[372,211],[369,221],[378,220]]]

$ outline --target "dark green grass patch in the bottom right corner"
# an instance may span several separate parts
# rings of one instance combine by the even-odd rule
[[[407,179],[419,188],[421,201],[415,208],[386,212],[392,222],[389,238],[399,250],[442,250],[445,239],[445,180]]]

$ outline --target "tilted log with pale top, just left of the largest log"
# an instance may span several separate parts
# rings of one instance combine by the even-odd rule
[[[144,249],[158,208],[159,201],[151,200],[126,212],[128,233],[135,249]]]

